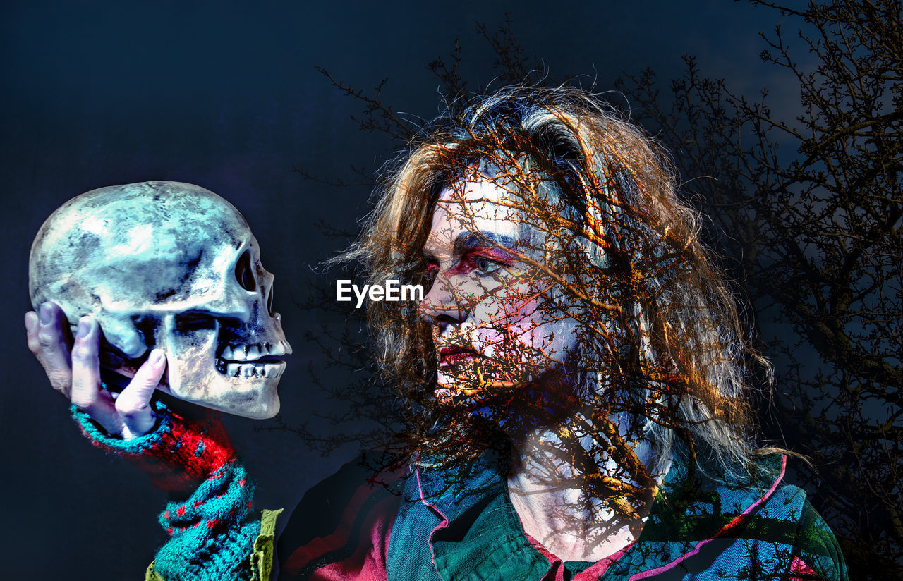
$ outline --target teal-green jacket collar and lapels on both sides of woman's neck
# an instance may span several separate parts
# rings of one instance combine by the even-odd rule
[[[675,459],[634,548],[665,541],[690,550],[699,541],[730,536],[747,526],[749,515],[775,492],[784,462],[779,455],[765,458],[761,477],[750,482],[716,480],[696,469],[692,460]],[[483,578],[554,578],[557,575],[548,574],[562,567],[530,544],[499,465],[494,457],[484,457],[464,475],[429,468],[412,475],[420,501],[441,520],[430,535],[430,547],[442,579],[458,581],[471,573]],[[635,560],[631,552],[636,551],[627,551],[628,561]]]

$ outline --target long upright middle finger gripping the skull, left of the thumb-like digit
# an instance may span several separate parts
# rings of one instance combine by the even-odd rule
[[[72,403],[90,414],[107,432],[120,434],[113,399],[100,388],[100,326],[93,317],[79,319],[79,331],[72,347]]]

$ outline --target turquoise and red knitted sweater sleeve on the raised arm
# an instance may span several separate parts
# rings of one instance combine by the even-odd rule
[[[154,484],[184,500],[167,503],[160,525],[169,540],[147,568],[149,581],[267,581],[277,512],[251,516],[254,485],[213,412],[187,422],[154,404],[157,426],[140,438],[108,436],[87,413],[72,415],[91,443],[141,466]]]

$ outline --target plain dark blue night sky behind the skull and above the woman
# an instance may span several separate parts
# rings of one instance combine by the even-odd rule
[[[24,345],[28,249],[42,221],[88,189],[181,180],[216,191],[248,219],[274,272],[276,309],[295,354],[280,386],[286,421],[318,401],[304,368],[321,361],[303,333],[319,315],[303,309],[310,266],[340,250],[314,226],[353,229],[368,190],[303,180],[349,164],[376,169],[391,154],[362,134],[360,107],[314,66],[359,88],[389,78],[386,101],[431,117],[438,82],[424,65],[461,36],[471,86],[489,83],[495,60],[474,23],[495,29],[509,11],[519,40],[556,77],[584,74],[596,88],[652,67],[677,76],[697,56],[712,77],[740,92],[768,85],[773,106],[792,107],[786,79],[759,63],[757,36],[775,14],[723,0],[696,2],[302,3],[5,2],[0,19],[0,135],[5,238],[10,268],[0,392],[5,446],[2,542],[5,575],[140,578],[163,539],[163,496],[131,466],[91,449]],[[782,84],[787,87],[782,90]],[[337,377],[335,381],[341,381]],[[257,505],[290,508],[353,449],[321,458],[264,422],[228,419],[259,483]],[[17,576],[16,576],[17,577]]]

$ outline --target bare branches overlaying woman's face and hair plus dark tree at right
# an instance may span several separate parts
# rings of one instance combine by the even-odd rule
[[[711,219],[705,235],[728,258],[730,271],[740,281],[735,292],[749,292],[747,300],[754,311],[749,314],[750,321],[777,318],[782,324],[759,333],[766,339],[762,350],[777,364],[776,389],[767,402],[763,429],[812,459],[815,471],[803,471],[799,477],[814,484],[816,508],[838,533],[852,576],[896,578],[903,555],[903,518],[898,507],[903,467],[898,393],[903,380],[899,309],[903,287],[901,5],[842,0],[796,10],[774,3],[755,4],[786,17],[782,27],[763,35],[768,48],[762,59],[785,69],[798,83],[802,111],[796,118],[778,118],[768,104],[767,91],[751,99],[731,92],[720,80],[706,78],[691,57],[685,58],[684,77],[673,81],[669,91],[659,89],[651,71],[626,77],[619,89],[636,104],[635,119],[671,149],[680,175],[688,180],[682,186],[684,194]],[[787,29],[793,34],[788,36]],[[485,27],[479,31],[498,55],[499,78],[517,83],[530,80],[525,51],[510,23],[498,32]],[[815,64],[798,64],[804,56]],[[429,65],[447,89],[450,117],[462,115],[473,105],[471,99],[483,92],[482,88],[467,92],[470,89],[459,72],[461,60],[461,45],[456,43],[451,60],[435,60]],[[398,144],[410,143],[420,134],[420,128],[396,117],[394,109],[380,99],[381,87],[371,97],[330,79],[365,105],[365,115],[358,120],[363,129],[383,131]],[[550,79],[545,78],[545,83],[550,84]],[[686,254],[681,241],[694,239],[695,232],[692,228],[672,232],[666,222],[656,224],[650,232],[648,225],[654,221],[633,215],[636,210],[631,205],[617,201],[642,195],[639,189],[612,195],[610,199],[615,201],[595,221],[585,214],[578,216],[580,212],[574,215],[575,205],[567,203],[566,197],[562,203],[571,209],[556,208],[557,202],[537,193],[543,189],[542,180],[573,184],[574,173],[554,163],[545,164],[540,171],[535,171],[535,166],[523,171],[525,161],[535,163],[536,156],[530,152],[535,143],[512,144],[514,137],[493,135],[491,139],[505,146],[484,142],[474,146],[469,158],[456,153],[448,164],[454,167],[457,163],[461,180],[468,171],[491,166],[489,179],[510,192],[520,213],[518,219],[528,226],[526,230],[539,235],[533,236],[530,244],[519,241],[517,248],[507,247],[517,258],[517,276],[525,284],[524,295],[515,293],[509,300],[517,304],[530,293],[554,289],[544,295],[549,299],[539,308],[544,313],[541,319],[580,321],[575,344],[582,346],[581,352],[550,352],[535,346],[535,353],[525,355],[523,349],[511,347],[517,346],[517,337],[510,333],[506,337],[505,326],[498,325],[498,356],[493,362],[455,364],[457,369],[452,371],[460,381],[437,397],[433,377],[442,360],[424,328],[422,342],[412,343],[413,351],[402,356],[405,361],[425,362],[415,370],[420,383],[412,384],[413,397],[386,396],[390,389],[386,384],[382,391],[377,390],[384,397],[374,399],[367,394],[374,392],[372,385],[377,383],[369,389],[361,386],[353,395],[344,387],[336,392],[355,400],[358,410],[366,410],[371,419],[385,420],[371,434],[383,433],[386,424],[396,431],[408,429],[401,441],[421,446],[429,441],[430,446],[440,447],[444,442],[453,449],[433,452],[455,457],[504,441],[495,428],[507,422],[510,434],[512,418],[520,417],[517,421],[526,428],[524,414],[512,416],[506,405],[512,392],[530,389],[535,375],[542,375],[544,369],[563,364],[569,374],[577,376],[599,369],[617,370],[605,380],[611,382],[611,389],[587,391],[588,383],[577,382],[580,387],[571,392],[573,401],[559,397],[554,403],[569,413],[587,403],[602,410],[595,419],[577,414],[588,421],[589,429],[579,422],[565,422],[562,454],[569,466],[581,466],[576,457],[580,450],[567,443],[587,436],[598,438],[609,457],[620,454],[619,472],[596,475],[588,470],[581,478],[602,483],[594,493],[618,499],[606,503],[605,509],[630,521],[631,507],[642,504],[631,495],[634,487],[656,476],[655,469],[650,474],[645,466],[630,468],[629,457],[636,454],[631,442],[638,439],[631,435],[636,436],[638,426],[647,429],[650,422],[660,424],[678,439],[684,435],[683,440],[692,447],[694,438],[685,436],[690,424],[668,403],[680,401],[687,393],[692,393],[694,401],[701,402],[694,405],[701,405],[708,414],[703,414],[703,424],[712,424],[722,415],[737,413],[735,410],[740,410],[745,420],[745,410],[732,401],[725,405],[718,397],[706,399],[703,388],[712,384],[712,378],[694,377],[693,359],[669,347],[673,343],[668,339],[669,316],[679,313],[685,318],[688,309],[699,308],[698,304],[682,304],[672,292],[684,276]],[[501,154],[504,159],[498,158],[499,152],[507,152]],[[462,162],[464,159],[467,161]],[[627,169],[619,171],[629,172],[634,167],[627,164]],[[452,183],[466,181],[461,180]],[[616,181],[594,187],[611,189]],[[464,193],[461,188],[458,198]],[[426,215],[414,220],[424,224]],[[642,252],[624,253],[603,242],[604,264],[593,266],[603,270],[587,271],[587,262],[577,260],[573,248],[587,247],[595,235],[600,242],[607,240],[607,233],[594,232],[606,227],[623,233],[633,248]],[[428,280],[429,267],[421,254],[425,237],[424,231],[413,244],[399,244],[395,250],[407,261],[407,270],[401,273],[410,280],[426,277],[420,280],[429,288],[433,281]],[[578,266],[581,263],[583,266]],[[487,287],[485,292],[492,289]],[[719,302],[721,299],[718,297]],[[719,308],[730,303],[721,303]],[[637,307],[628,312],[631,309],[625,310],[625,305]],[[654,313],[657,327],[640,324],[639,312]],[[391,316],[405,324],[416,318],[413,312]],[[383,319],[381,324],[392,322]],[[707,353],[735,360],[738,354],[731,354],[731,349],[739,350],[741,358],[755,363],[755,355],[743,346],[739,327],[710,325],[708,330],[707,337],[719,338],[709,341]],[[385,345],[382,350],[378,347],[377,354],[389,353]],[[690,350],[697,347],[702,348],[685,346]],[[535,369],[524,366],[525,358],[536,364]],[[517,367],[511,364],[515,361],[520,362],[517,376],[511,371]],[[650,361],[656,364],[650,365]],[[766,382],[767,376],[767,371],[761,374]],[[619,382],[630,383],[634,389],[619,389],[615,385]],[[643,389],[636,389],[636,383]],[[625,398],[624,393],[633,395]],[[557,409],[541,397],[532,401],[543,402],[544,409]],[[487,421],[473,420],[476,409],[488,410],[478,414]],[[436,410],[450,420],[426,422],[419,432],[404,421],[388,420],[435,417]],[[499,410],[506,410],[507,415],[499,418]],[[455,420],[458,412],[460,421]],[[533,417],[535,410],[526,415]],[[628,417],[632,420],[624,420],[622,426],[603,420],[615,418],[617,423]],[[442,430],[452,431],[442,435]],[[742,430],[733,436],[744,438]],[[374,436],[368,443],[377,440],[380,438]],[[461,441],[479,446],[455,446]],[[330,445],[335,443],[333,440]],[[582,466],[600,466],[599,460],[583,459]],[[554,463],[550,466],[554,470]],[[611,494],[617,490],[620,493]],[[874,567],[876,562],[880,567]]]

